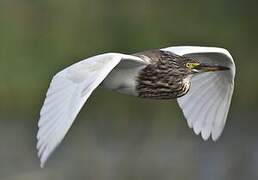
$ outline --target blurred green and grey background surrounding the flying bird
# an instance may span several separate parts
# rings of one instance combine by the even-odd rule
[[[0,0],[0,179],[258,179],[257,1]],[[36,132],[51,77],[103,52],[227,48],[235,92],[217,142],[176,101],[98,88],[44,169]]]

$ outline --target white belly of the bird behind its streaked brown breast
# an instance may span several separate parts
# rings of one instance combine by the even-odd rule
[[[143,67],[144,66],[134,66],[131,68],[123,68],[118,65],[105,78],[102,85],[107,89],[119,93],[137,96],[138,93],[135,91],[137,85],[136,78]]]

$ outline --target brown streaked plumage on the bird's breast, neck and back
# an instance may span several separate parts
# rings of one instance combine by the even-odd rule
[[[135,54],[149,61],[137,77],[136,91],[139,97],[173,99],[185,95],[190,88],[189,74],[185,67],[189,59],[169,51],[151,50]]]

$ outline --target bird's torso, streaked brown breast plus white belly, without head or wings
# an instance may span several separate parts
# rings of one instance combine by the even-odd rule
[[[187,69],[180,72],[174,61],[184,62],[187,58],[158,49],[133,55],[144,63],[125,67],[121,63],[103,81],[105,88],[151,99],[178,98],[189,90],[191,75],[187,74]]]

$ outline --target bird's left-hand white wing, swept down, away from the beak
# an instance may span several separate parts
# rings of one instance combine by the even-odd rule
[[[107,53],[80,61],[53,77],[38,122],[41,167],[62,141],[92,91],[121,60],[141,61],[135,56]]]

